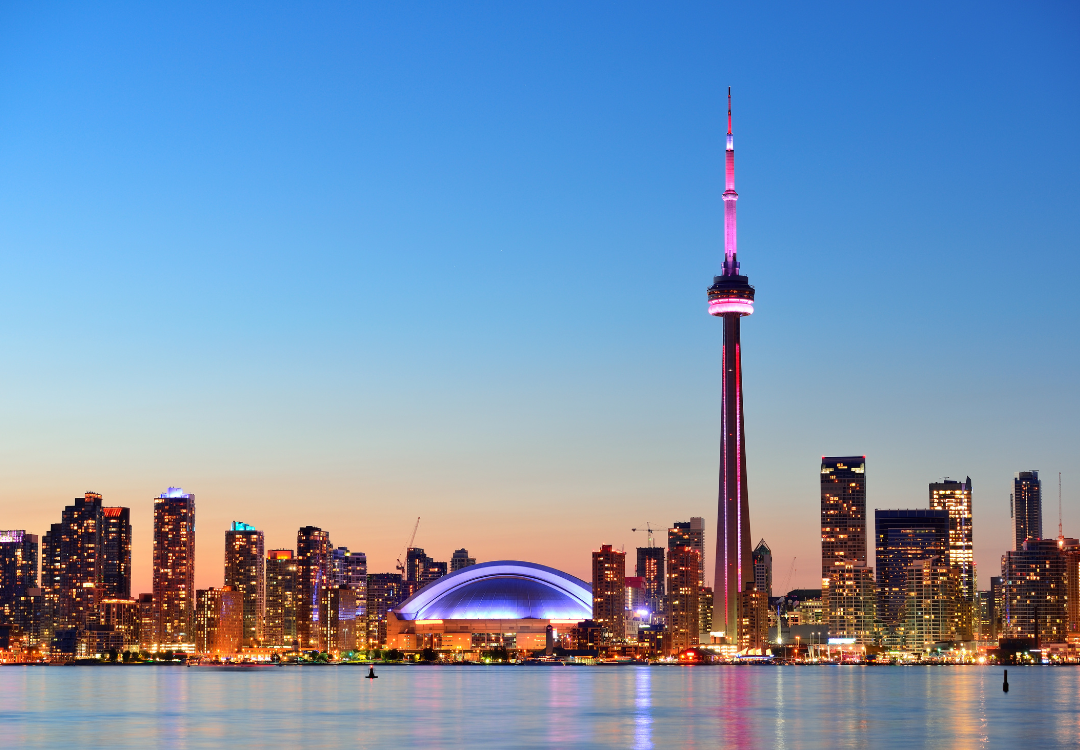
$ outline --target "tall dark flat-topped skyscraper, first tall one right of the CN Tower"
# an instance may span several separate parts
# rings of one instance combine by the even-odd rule
[[[821,459],[821,577],[866,564],[866,456]]]

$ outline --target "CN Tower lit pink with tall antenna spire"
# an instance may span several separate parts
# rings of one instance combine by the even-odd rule
[[[708,314],[724,320],[724,394],[720,413],[720,488],[716,513],[716,575],[713,578],[713,630],[728,643],[739,640],[739,594],[754,580],[750,551],[750,497],[746,492],[746,440],[742,411],[742,352],[739,325],[754,312],[754,287],[740,276],[735,255],[735,147],[731,135],[728,86],[727,180],[724,190],[724,272],[708,287]]]

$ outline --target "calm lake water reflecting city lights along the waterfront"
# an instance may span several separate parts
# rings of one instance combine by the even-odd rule
[[[1080,745],[1080,668],[0,668],[0,746]]]

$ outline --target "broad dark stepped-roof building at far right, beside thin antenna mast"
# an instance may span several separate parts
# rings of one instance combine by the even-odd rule
[[[1031,539],[1002,559],[1004,634],[1064,643],[1068,634],[1066,552],[1057,539]]]

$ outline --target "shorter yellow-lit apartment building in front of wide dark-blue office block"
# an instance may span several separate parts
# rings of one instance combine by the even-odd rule
[[[936,560],[916,560],[905,575],[904,645],[926,651],[935,643],[957,638],[959,568]]]

